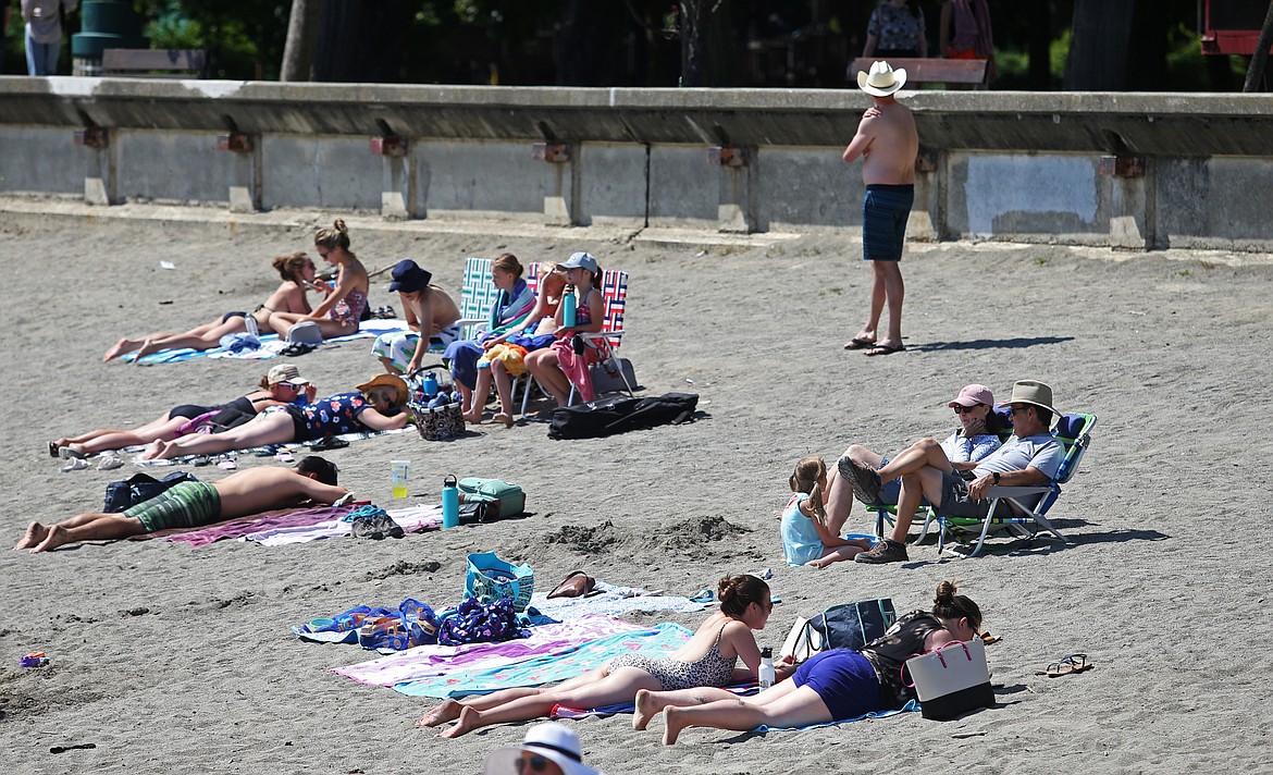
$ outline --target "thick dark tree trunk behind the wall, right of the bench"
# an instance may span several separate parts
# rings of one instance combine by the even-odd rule
[[[1134,10],[1136,0],[1074,0],[1066,89],[1119,92],[1128,88],[1127,55]]]

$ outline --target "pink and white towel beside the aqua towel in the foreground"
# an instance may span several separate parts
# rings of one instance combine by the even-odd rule
[[[423,645],[390,657],[332,668],[334,673],[367,686],[393,686],[453,671],[477,671],[507,666],[513,662],[552,654],[573,646],[617,635],[651,632],[648,627],[619,618],[586,616],[583,618],[531,627],[531,636],[504,643],[472,643],[456,646]]]

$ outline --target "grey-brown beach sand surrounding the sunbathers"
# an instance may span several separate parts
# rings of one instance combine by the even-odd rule
[[[414,597],[444,608],[461,597],[470,551],[530,561],[541,588],[583,568],[614,584],[693,594],[728,571],[771,568],[783,602],[757,640],[773,646],[799,615],[876,597],[899,612],[929,607],[937,583],[955,578],[1003,638],[988,649],[998,705],[950,723],[901,714],[808,732],[690,729],[667,748],[661,720],[645,733],[624,715],[566,722],[587,761],[611,775],[1270,771],[1273,442],[1259,426],[1273,363],[1267,255],[911,244],[908,351],[864,358],[841,349],[862,323],[869,283],[859,242],[844,235],[348,218],[369,270],[414,257],[456,298],[466,256],[560,261],[587,249],[626,270],[622,354],[647,394],[698,393],[703,416],[586,442],[488,421],[452,443],[410,431],[326,453],[342,485],[381,505],[395,505],[391,459],[410,461],[412,503],[438,503],[447,473],[521,484],[530,515],[498,524],[396,541],[190,548],[153,540],[28,555],[8,547],[31,520],[98,510],[107,482],[140,471],[62,473],[46,442],[229,400],[280,363],[132,367],[103,364],[103,351],[121,336],[251,309],[278,284],[270,258],[312,251],[314,227],[334,216],[3,205],[8,772],[477,772],[486,751],[519,741],[526,725],[437,739],[412,725],[434,701],[328,672],[373,653],[300,643],[288,630],[358,603]],[[397,305],[383,277],[370,303]],[[379,370],[369,349],[359,340],[294,363],[326,394]],[[927,545],[904,564],[785,566],[775,517],[797,458],[834,462],[850,443],[896,452],[942,438],[956,425],[946,402],[960,387],[984,383],[1002,400],[1021,378],[1049,383],[1058,408],[1100,419],[1051,512],[1069,543],[965,561]],[[849,527],[871,529],[861,505]],[[631,620],[694,627],[704,616]],[[50,663],[19,668],[36,650]],[[1071,652],[1096,668],[1035,674]]]

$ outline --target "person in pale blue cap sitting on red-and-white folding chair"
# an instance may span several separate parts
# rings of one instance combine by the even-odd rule
[[[526,368],[536,382],[549,392],[558,406],[566,406],[570,400],[570,384],[579,388],[579,396],[584,401],[592,401],[592,379],[588,375],[588,367],[598,363],[596,347],[584,345],[583,351],[575,349],[575,333],[597,333],[606,314],[606,300],[601,295],[601,267],[597,260],[589,253],[574,253],[560,269],[565,270],[565,280],[569,284],[565,293],[574,293],[575,321],[573,326],[566,326],[564,319],[565,304],[563,303],[554,316],[556,331],[552,332],[556,341],[546,350],[536,350],[526,356]],[[573,290],[570,286],[574,286]],[[565,299],[563,298],[563,302]],[[582,340],[580,340],[582,341]]]

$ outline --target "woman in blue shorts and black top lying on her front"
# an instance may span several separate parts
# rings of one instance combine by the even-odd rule
[[[633,727],[644,729],[663,714],[663,743],[671,746],[686,727],[746,732],[756,727],[808,727],[855,719],[875,710],[897,709],[914,699],[901,667],[915,654],[953,640],[971,640],[981,629],[981,610],[956,594],[953,582],[937,585],[932,613],[911,611],[883,638],[854,652],[831,649],[796,668],[759,695],[740,697],[721,688],[636,692]]]

